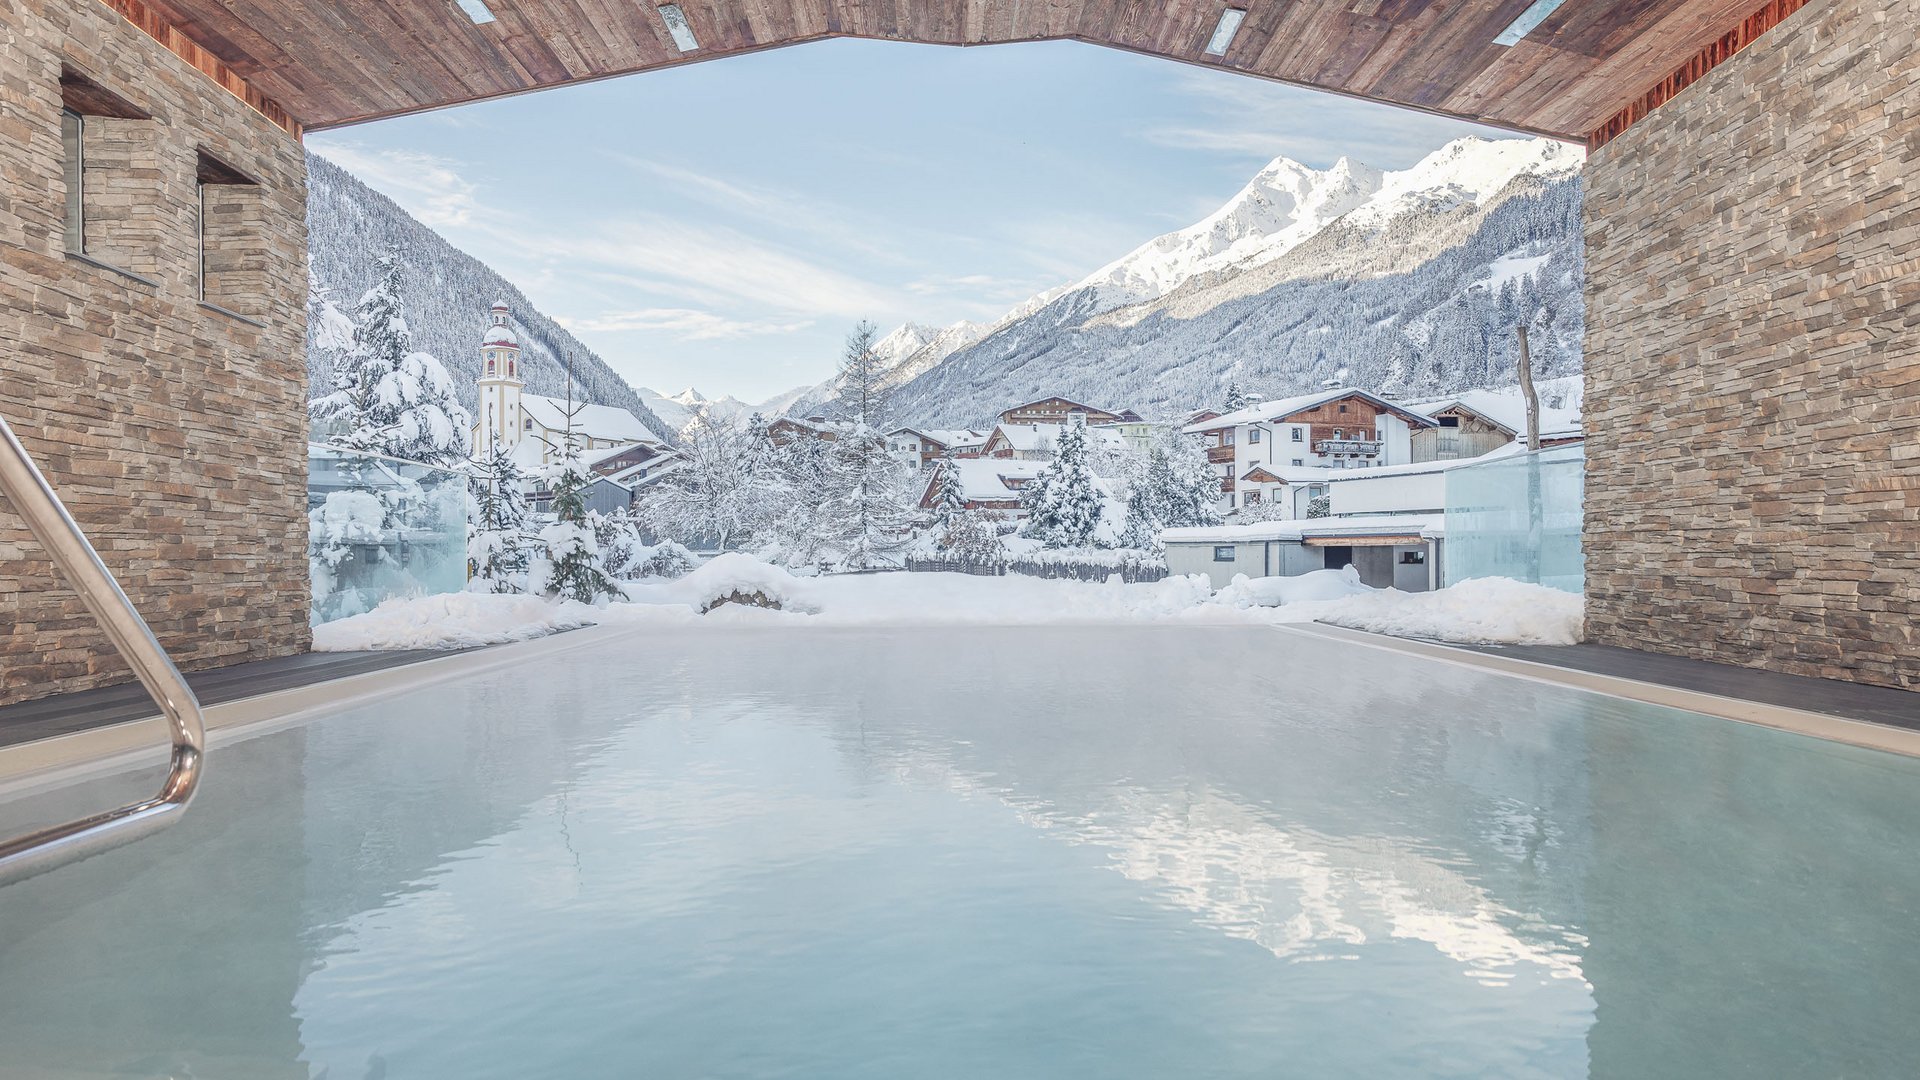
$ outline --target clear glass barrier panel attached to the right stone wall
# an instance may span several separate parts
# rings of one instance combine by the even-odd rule
[[[1586,450],[1555,446],[1446,473],[1446,584],[1505,577],[1586,586],[1580,552]]]

